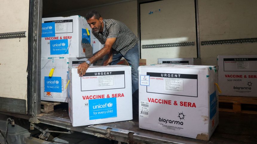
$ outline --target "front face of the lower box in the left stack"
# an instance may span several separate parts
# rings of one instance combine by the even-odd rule
[[[52,77],[49,77],[54,68]],[[42,58],[41,59],[41,100],[68,102],[67,84],[68,59]],[[46,81],[46,79],[48,81]]]

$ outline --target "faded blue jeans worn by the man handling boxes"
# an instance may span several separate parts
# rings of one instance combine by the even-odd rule
[[[112,57],[112,62],[110,65],[116,65],[120,59],[124,57],[129,65],[131,66],[131,81],[132,81],[132,106],[133,114],[138,115],[138,67],[139,67],[139,52],[138,45],[131,48],[125,56],[118,53]],[[108,58],[106,55],[103,58],[103,62]]]

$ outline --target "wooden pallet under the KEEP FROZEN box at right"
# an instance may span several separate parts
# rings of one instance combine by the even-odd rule
[[[222,112],[238,112],[247,114],[257,114],[257,110],[242,110],[241,104],[248,104],[257,106],[257,97],[243,97],[243,96],[219,96],[219,104],[231,103],[232,108],[219,108]]]

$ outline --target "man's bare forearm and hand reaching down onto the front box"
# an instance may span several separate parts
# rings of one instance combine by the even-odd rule
[[[111,52],[111,48],[112,48],[112,45],[114,44],[115,40],[116,40],[116,38],[106,39],[105,46],[100,51],[98,51],[97,54],[95,54],[93,57],[89,58],[88,60],[91,63],[94,63],[97,60],[99,60],[100,58],[102,58],[103,56],[105,56],[106,54],[109,54]],[[88,67],[89,67],[89,65],[85,62],[80,64],[78,67],[76,67],[76,68],[78,68],[79,76],[85,75]]]

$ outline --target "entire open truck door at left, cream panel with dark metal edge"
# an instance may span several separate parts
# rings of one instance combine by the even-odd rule
[[[41,3],[39,0],[1,1],[1,113],[33,116],[40,109],[40,97],[37,98],[40,63],[38,65],[37,60],[40,60]]]

